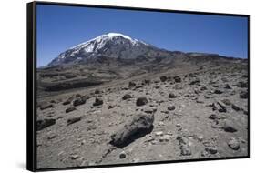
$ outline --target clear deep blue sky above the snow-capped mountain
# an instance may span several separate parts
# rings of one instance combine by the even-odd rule
[[[37,66],[109,32],[184,52],[247,58],[247,18],[37,5]]]

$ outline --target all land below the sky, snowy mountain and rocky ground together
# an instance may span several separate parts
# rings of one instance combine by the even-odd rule
[[[99,36],[37,68],[37,168],[246,157],[248,89],[247,59]]]

